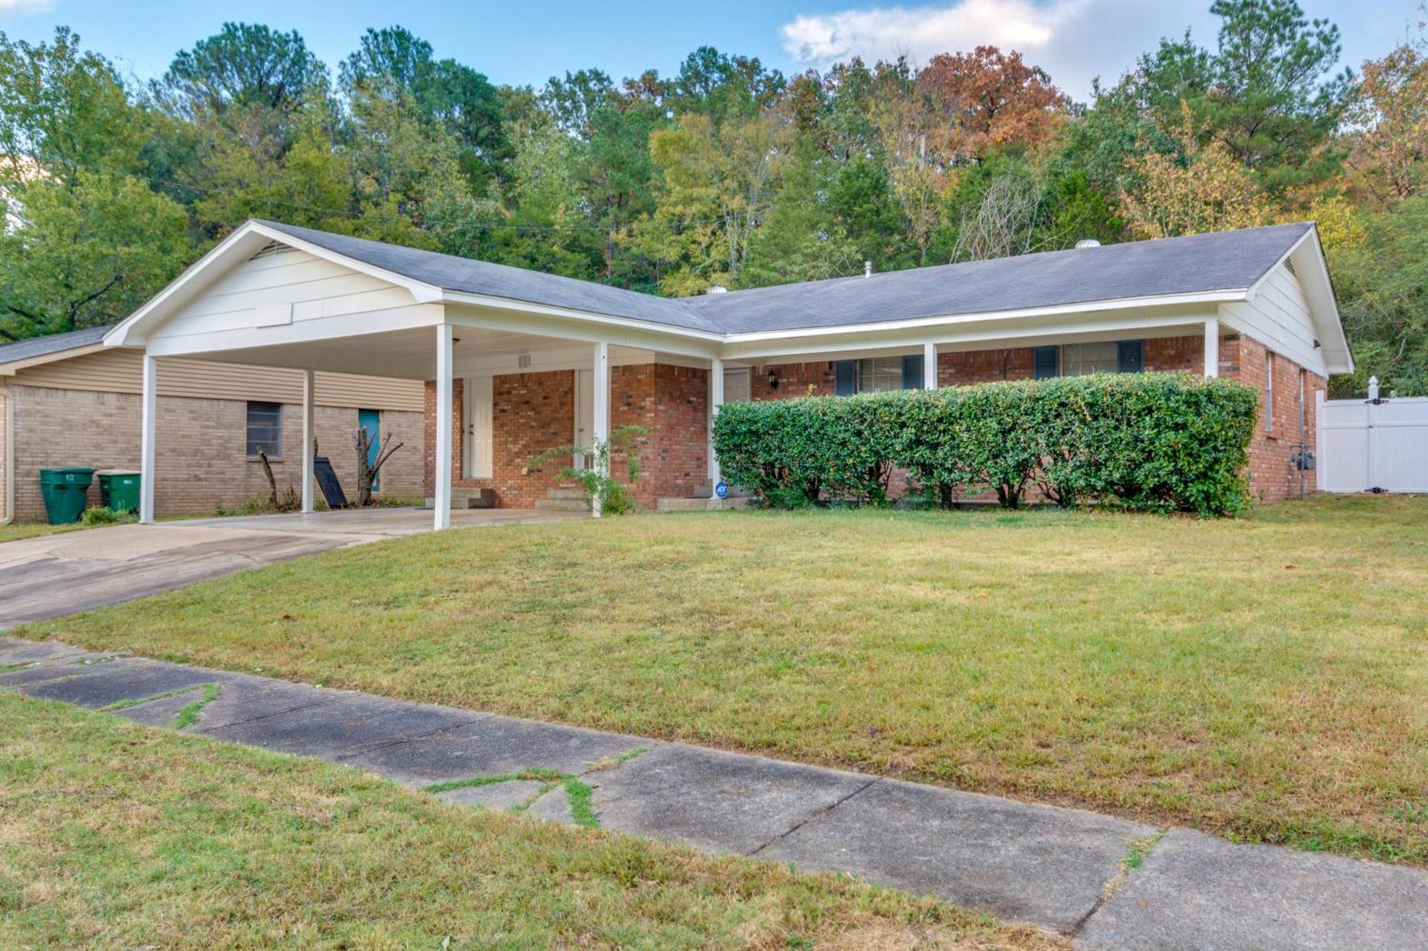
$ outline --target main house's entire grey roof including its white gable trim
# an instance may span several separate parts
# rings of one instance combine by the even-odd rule
[[[1332,373],[1352,368],[1312,223],[1218,231],[1105,247],[667,298],[593,281],[248,220],[114,327],[107,346],[161,323],[236,263],[287,243],[407,288],[417,303],[490,306],[563,320],[640,326],[698,346],[867,334],[940,321],[1035,317],[1172,304],[1252,301],[1294,257]],[[141,337],[143,331],[137,331]],[[670,341],[674,346],[674,341]]]

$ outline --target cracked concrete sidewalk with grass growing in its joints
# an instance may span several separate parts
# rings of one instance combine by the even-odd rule
[[[1082,948],[1382,951],[1428,935],[1428,872],[1417,868],[57,643],[0,637],[3,667],[0,687],[31,697],[90,708],[151,698],[116,711],[151,725],[217,684],[191,731],[447,784],[437,794],[454,802],[848,871]],[[575,814],[571,784],[590,788],[593,817]]]

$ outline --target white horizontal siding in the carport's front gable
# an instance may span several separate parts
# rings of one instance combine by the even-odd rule
[[[351,314],[430,308],[411,293],[306,251],[260,251],[214,281],[156,328],[151,340],[223,334]]]

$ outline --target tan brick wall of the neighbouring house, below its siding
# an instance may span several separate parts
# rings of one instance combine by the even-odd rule
[[[49,387],[10,387],[14,400],[16,520],[44,518],[39,470],[50,466],[139,468],[139,394]],[[348,497],[357,494],[351,447],[357,410],[316,407],[318,454],[333,461]],[[383,466],[387,495],[421,494],[421,416],[384,410],[383,433],[406,446]],[[267,493],[263,466],[247,458],[247,403],[159,397],[154,508],[159,515],[213,513]],[[283,458],[273,460],[278,491],[300,488],[303,408],[283,407]],[[320,498],[321,495],[318,495]],[[90,487],[99,504],[99,480]]]

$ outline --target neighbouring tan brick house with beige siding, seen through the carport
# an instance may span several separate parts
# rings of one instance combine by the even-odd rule
[[[143,353],[106,347],[107,327],[0,346],[3,521],[44,518],[40,468],[139,468]],[[383,466],[387,494],[420,497],[426,457],[423,386],[416,380],[321,373],[316,378],[318,448],[354,491],[358,426],[406,447]],[[159,377],[159,514],[211,513],[267,493],[263,446],[278,488],[297,487],[303,374],[201,360],[166,360]],[[99,504],[99,481],[90,488]]]

